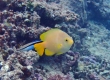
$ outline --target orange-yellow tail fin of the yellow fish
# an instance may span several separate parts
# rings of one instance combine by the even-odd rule
[[[43,42],[34,44],[34,49],[37,51],[39,56],[42,56],[45,49]]]

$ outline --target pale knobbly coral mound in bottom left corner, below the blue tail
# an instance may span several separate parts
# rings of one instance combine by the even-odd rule
[[[2,52],[2,54],[6,54]],[[6,55],[5,55],[6,56]],[[31,76],[32,65],[38,61],[39,56],[36,52],[16,52],[8,54],[6,60],[1,60],[0,77],[2,80],[9,79],[26,79]]]

